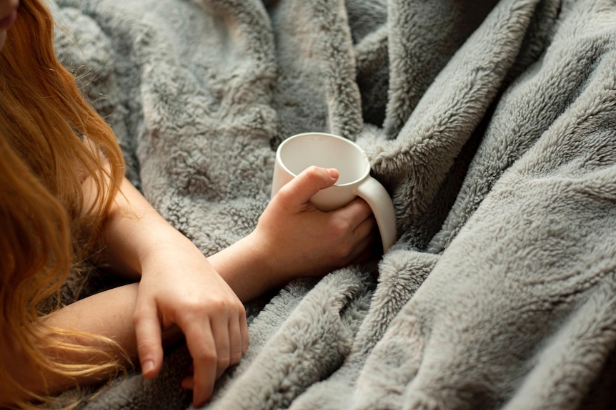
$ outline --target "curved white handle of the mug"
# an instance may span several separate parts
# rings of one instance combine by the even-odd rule
[[[392,198],[389,198],[384,186],[371,176],[357,185],[355,194],[365,200],[372,209],[381,232],[383,253],[387,252],[396,242],[396,212]]]

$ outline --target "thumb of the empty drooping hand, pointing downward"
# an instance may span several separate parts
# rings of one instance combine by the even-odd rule
[[[161,323],[155,304],[138,304],[133,315],[141,373],[151,379],[162,367]]]

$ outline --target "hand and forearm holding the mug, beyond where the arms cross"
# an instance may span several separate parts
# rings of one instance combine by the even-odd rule
[[[375,222],[364,200],[335,212],[321,212],[308,202],[337,180],[337,171],[329,172],[314,168],[299,175],[269,203],[253,232],[209,257],[240,299],[253,299],[297,277],[320,277],[367,262]]]

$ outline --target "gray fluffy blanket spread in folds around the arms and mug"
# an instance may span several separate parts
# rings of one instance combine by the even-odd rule
[[[52,6],[130,178],[205,254],[254,228],[295,133],[357,141],[394,199],[377,272],[248,305],[207,409],[615,404],[615,1]],[[186,409],[188,363],[177,347],[84,407]]]

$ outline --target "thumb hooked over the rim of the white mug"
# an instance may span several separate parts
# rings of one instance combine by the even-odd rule
[[[279,191],[298,205],[304,205],[319,190],[329,188],[338,180],[338,170],[334,168],[309,167],[293,178]]]

